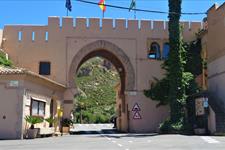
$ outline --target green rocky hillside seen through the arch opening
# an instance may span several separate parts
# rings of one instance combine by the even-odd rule
[[[114,66],[99,57],[85,62],[77,73],[79,95],[75,98],[75,118],[83,123],[105,123],[115,113],[115,85],[119,75]],[[82,118],[82,119],[81,119]]]

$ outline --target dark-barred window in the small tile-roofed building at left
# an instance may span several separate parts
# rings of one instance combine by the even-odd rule
[[[31,99],[31,111],[32,116],[44,116],[45,115],[45,102]]]

